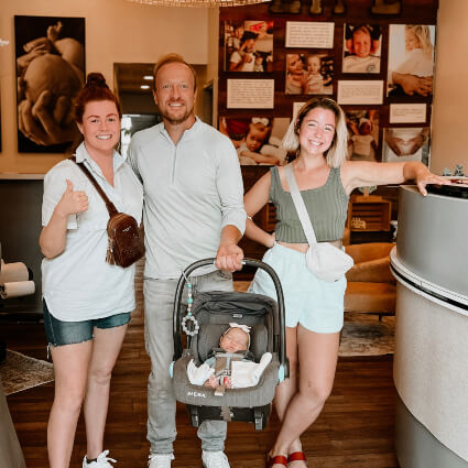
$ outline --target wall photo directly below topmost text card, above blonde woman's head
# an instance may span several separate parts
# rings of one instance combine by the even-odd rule
[[[335,58],[333,55],[286,54],[286,95],[333,95]]]

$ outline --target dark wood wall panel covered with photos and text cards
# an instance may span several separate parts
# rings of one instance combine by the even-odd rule
[[[220,15],[225,44],[220,86],[227,92],[226,101],[219,101],[219,129],[235,142],[242,165],[284,164],[283,156],[276,157],[282,135],[275,126],[291,121],[293,109],[297,112],[315,96],[330,97],[344,109],[348,160],[428,164],[436,26],[393,24],[401,11],[387,13],[385,8],[376,15],[362,14],[366,21],[341,15],[335,22],[318,13],[315,20],[311,12],[293,21],[271,9],[257,21],[250,19],[253,15],[244,20]],[[435,13],[431,18],[435,21]],[[258,117],[247,118],[247,109]],[[253,123],[257,119],[264,123]],[[230,131],[242,120],[241,134]],[[258,149],[252,150],[255,132]],[[268,155],[271,146],[276,149],[273,156]],[[251,157],[247,151],[262,156]]]

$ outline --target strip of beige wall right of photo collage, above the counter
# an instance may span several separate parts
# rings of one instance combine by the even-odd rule
[[[439,0],[431,170],[468,173],[468,1]]]

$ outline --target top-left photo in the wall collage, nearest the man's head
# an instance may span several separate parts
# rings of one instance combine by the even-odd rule
[[[273,72],[273,21],[225,21],[225,70]]]

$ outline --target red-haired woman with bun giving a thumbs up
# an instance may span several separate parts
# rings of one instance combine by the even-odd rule
[[[116,151],[121,111],[105,77],[91,73],[76,98],[83,141],[75,152],[116,208],[141,221],[143,191]],[[44,178],[40,237],[44,325],[54,362],[55,396],[47,427],[51,468],[70,462],[84,404],[87,451],[83,468],[112,468],[104,432],[110,378],[134,308],[134,265],[106,262],[109,214],[78,165],[65,160]]]

